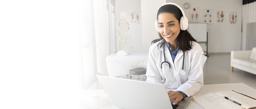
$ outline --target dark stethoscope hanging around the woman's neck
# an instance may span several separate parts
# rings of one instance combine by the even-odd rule
[[[163,48],[164,48],[164,47],[163,47]],[[185,75],[185,74],[186,74],[185,70],[183,69],[183,68],[184,68],[184,56],[185,56],[185,52],[183,51],[182,69],[179,71],[179,74],[181,74],[181,75]],[[168,64],[169,64],[169,73],[170,73],[170,79],[169,79],[169,80],[170,80],[170,81],[169,81],[168,84],[165,84],[165,82],[164,82],[163,68],[162,68],[163,63],[168,63]],[[168,86],[168,85],[172,84],[172,83],[171,83],[171,64],[165,60],[165,50],[164,50],[164,62],[161,63],[161,73],[162,73],[162,75],[161,75],[161,77],[162,77],[162,82],[164,83],[164,85]]]

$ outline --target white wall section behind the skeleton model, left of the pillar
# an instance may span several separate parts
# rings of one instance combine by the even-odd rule
[[[141,52],[141,5],[140,0],[117,0],[115,2],[115,18],[116,23],[120,21],[120,13],[126,12],[127,17],[125,20],[129,23],[130,26],[130,46],[134,48],[136,52]],[[132,23],[132,12],[139,12],[139,24]],[[134,19],[136,19],[136,15],[134,15]],[[131,52],[134,52],[131,49]]]

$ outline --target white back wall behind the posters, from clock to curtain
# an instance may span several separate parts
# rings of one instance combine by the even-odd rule
[[[167,0],[183,7],[188,2],[190,8],[199,7],[201,14],[203,9],[213,9],[213,23],[207,24],[208,31],[208,52],[230,52],[240,50],[241,47],[241,23],[242,23],[242,0]],[[183,8],[184,9],[184,8]],[[189,9],[184,9],[186,16]],[[216,13],[224,11],[224,23],[216,23]],[[229,24],[229,13],[237,12],[237,23]],[[201,19],[203,17],[201,16]],[[201,20],[202,21],[202,20]],[[201,22],[202,23],[202,22]]]

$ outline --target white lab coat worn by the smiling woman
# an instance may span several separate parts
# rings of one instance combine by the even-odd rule
[[[162,41],[162,40],[161,40]],[[161,83],[161,63],[164,61],[163,48],[157,46],[160,41],[154,43],[149,48],[148,66],[146,71],[147,82]],[[192,41],[191,50],[185,51],[184,70],[185,75],[179,71],[182,69],[183,51],[179,50],[174,62],[170,51],[165,44],[166,61],[171,64],[171,85],[166,86],[169,89],[176,89],[184,92],[188,97],[195,95],[203,86],[203,59],[201,46]],[[169,67],[168,67],[169,68]],[[168,69],[167,68],[167,69]],[[169,71],[167,72],[169,73]],[[169,80],[169,79],[168,79]]]

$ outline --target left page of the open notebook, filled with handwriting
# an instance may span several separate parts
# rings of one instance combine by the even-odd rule
[[[215,93],[209,93],[203,96],[192,97],[192,100],[205,109],[243,109],[244,108]]]

